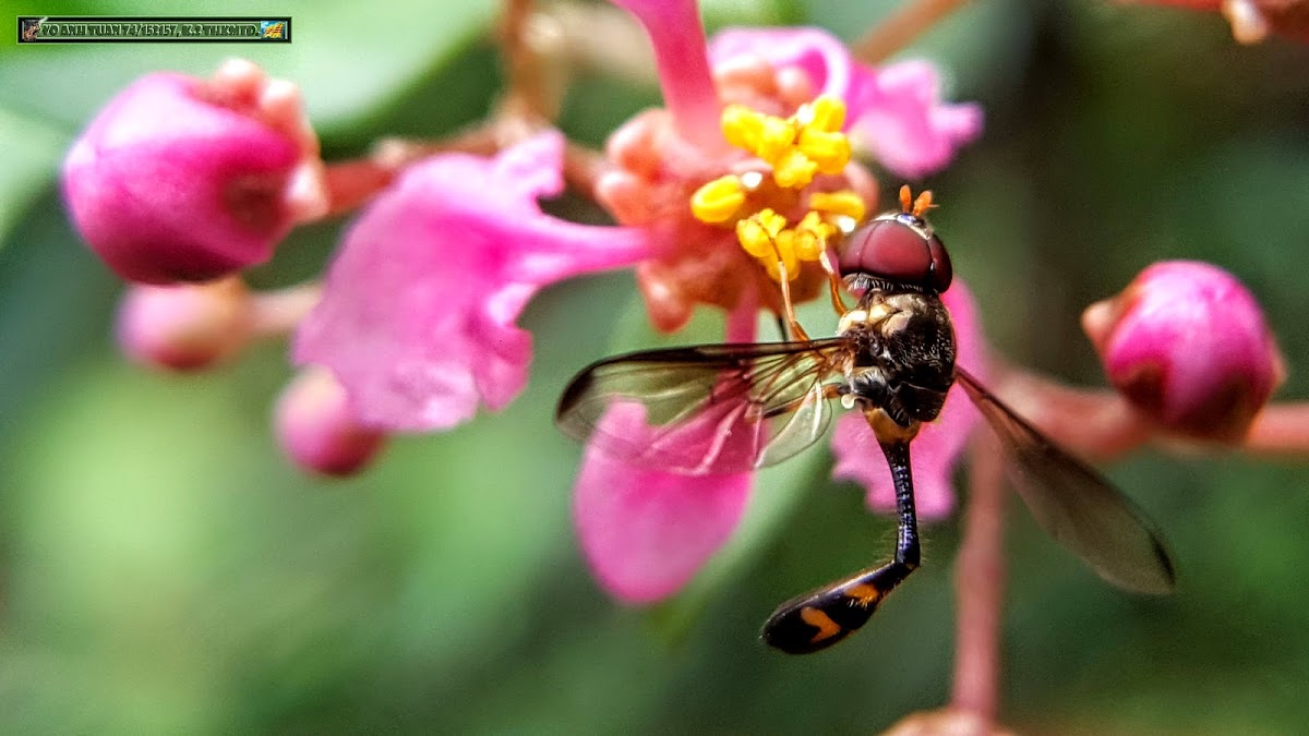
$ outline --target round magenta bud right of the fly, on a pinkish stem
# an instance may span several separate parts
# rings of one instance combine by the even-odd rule
[[[1156,263],[1081,322],[1114,386],[1185,436],[1241,441],[1285,376],[1254,296],[1208,263]]]

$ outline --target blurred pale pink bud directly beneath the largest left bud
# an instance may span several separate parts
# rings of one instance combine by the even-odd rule
[[[137,363],[194,371],[250,342],[251,297],[241,279],[134,285],[118,312],[118,342]]]

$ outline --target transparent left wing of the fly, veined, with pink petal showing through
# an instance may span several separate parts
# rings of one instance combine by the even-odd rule
[[[846,340],[704,344],[609,358],[579,373],[555,420],[644,468],[703,475],[780,462],[831,420],[823,380]]]

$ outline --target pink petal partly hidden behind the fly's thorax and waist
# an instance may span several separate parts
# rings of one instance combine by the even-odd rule
[[[941,297],[954,320],[958,343],[957,363],[978,377],[986,361],[984,343],[977,320],[977,308],[967,287],[959,279]],[[941,415],[925,424],[910,445],[910,465],[914,469],[914,498],[922,519],[941,519],[954,508],[950,474],[954,462],[967,444],[969,435],[980,415],[958,386],[950,389]],[[836,465],[833,478],[855,481],[868,490],[868,507],[874,511],[895,508],[895,487],[891,483],[886,458],[877,447],[877,437],[868,422],[856,411],[846,413],[836,420],[831,440]]]

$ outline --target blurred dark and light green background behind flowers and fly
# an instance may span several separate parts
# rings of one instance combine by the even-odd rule
[[[890,551],[891,521],[829,481],[827,449],[762,474],[746,526],[685,596],[643,612],[597,589],[569,523],[580,449],[551,411],[581,363],[636,347],[635,305],[594,308],[635,304],[630,274],[533,303],[533,381],[512,407],[395,441],[346,482],[302,477],[274,445],[283,344],[194,377],[127,365],[122,287],[71,232],[54,175],[131,79],[249,55],[304,86],[329,157],[449,132],[499,89],[487,1],[173,5],[17,10],[292,13],[295,43],[0,46],[0,731],[844,732],[948,699],[957,521],[928,529],[925,567],[850,643],[792,659],[757,640],[775,604]],[[706,14],[853,38],[893,5]],[[1267,308],[1291,367],[1280,397],[1309,396],[1309,48],[1238,47],[1216,13],[997,0],[912,54],[987,111],[927,183],[1000,352],[1100,384],[1080,310],[1153,261],[1203,258]],[[562,126],[598,143],[657,100],[584,75]],[[253,280],[318,272],[339,227],[296,233]],[[1147,452],[1109,471],[1166,530],[1181,592],[1101,584],[1014,504],[1005,723],[1304,732],[1309,468]]]

